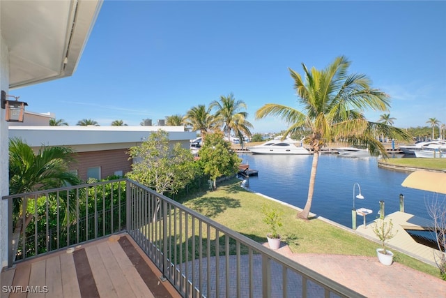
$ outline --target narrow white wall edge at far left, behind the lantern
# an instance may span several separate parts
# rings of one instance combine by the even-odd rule
[[[1,3],[0,3],[1,10]],[[1,24],[1,23],[0,23]],[[1,26],[1,25],[0,25]],[[1,32],[1,27],[0,27]],[[0,87],[8,94],[9,89],[9,53],[3,36],[0,35]],[[9,153],[8,122],[5,121],[5,110],[0,109],[0,262],[1,267],[8,265],[8,204],[1,200],[9,194]]]

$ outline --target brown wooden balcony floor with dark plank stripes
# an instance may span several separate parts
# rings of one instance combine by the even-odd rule
[[[127,234],[1,272],[3,297],[180,297]]]

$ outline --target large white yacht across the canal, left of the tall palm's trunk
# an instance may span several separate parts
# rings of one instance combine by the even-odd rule
[[[290,137],[286,137],[283,141],[281,139],[282,137],[275,137],[274,140],[246,148],[253,154],[312,154],[302,146],[302,143],[300,147],[295,146],[298,141]]]

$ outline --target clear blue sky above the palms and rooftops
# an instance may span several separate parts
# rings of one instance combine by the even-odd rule
[[[72,77],[14,90],[32,112],[74,126],[185,114],[233,93],[254,133],[266,103],[298,107],[288,68],[335,57],[390,94],[401,128],[446,122],[444,1],[105,1]],[[383,112],[366,112],[377,121]]]

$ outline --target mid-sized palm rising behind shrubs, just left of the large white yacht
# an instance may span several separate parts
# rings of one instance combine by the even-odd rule
[[[220,101],[214,100],[210,103],[210,108],[216,108],[215,117],[223,126],[223,131],[228,140],[231,140],[231,131],[240,137],[243,143],[243,134],[251,137],[249,128],[253,128],[252,124],[246,120],[248,113],[241,111],[246,109],[246,103],[243,100],[236,100],[233,94],[229,96],[220,96]]]

